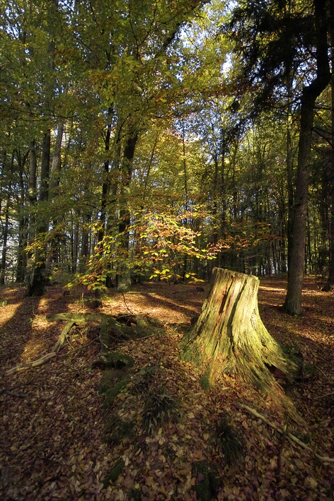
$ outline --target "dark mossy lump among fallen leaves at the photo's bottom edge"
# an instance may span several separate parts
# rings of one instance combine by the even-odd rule
[[[199,482],[195,486],[197,500],[211,501],[221,487],[221,477],[216,466],[207,463],[207,461],[200,461],[192,466],[192,474],[197,477]]]

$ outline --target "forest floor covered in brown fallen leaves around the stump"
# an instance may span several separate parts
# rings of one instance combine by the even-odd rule
[[[84,289],[64,295],[60,285],[52,285],[40,298],[25,297],[20,287],[0,289],[0,300],[8,301],[0,308],[1,500],[334,499],[334,463],[316,456],[334,458],[333,293],[306,278],[305,314],[289,317],[279,308],[286,283],[260,281],[260,316],[268,331],[297,345],[304,364],[317,369],[290,389],[301,425],[274,397],[237,377],[225,376],[205,391],[199,368],[180,360],[179,341],[200,314],[207,287],[136,285],[124,295],[108,293],[100,309],[92,308]],[[165,334],[158,329],[150,337],[115,342],[115,350],[130,355],[134,365],[127,369],[127,386],[105,408],[97,391],[103,371],[91,368],[100,353],[100,344],[91,343],[97,322],[72,329],[69,343],[44,365],[5,375],[52,349],[64,322],[47,322],[46,316],[59,312],[149,314],[163,322]],[[146,425],[153,419],[147,406],[150,374],[156,391],[170,396],[175,419],[147,432],[143,416]],[[231,440],[243,447],[243,459],[231,465],[217,435],[224,416],[234,427]],[[289,432],[316,454],[291,442]]]

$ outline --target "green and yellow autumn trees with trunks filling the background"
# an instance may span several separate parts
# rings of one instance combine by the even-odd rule
[[[1,1],[1,283],[334,283],[329,0]]]

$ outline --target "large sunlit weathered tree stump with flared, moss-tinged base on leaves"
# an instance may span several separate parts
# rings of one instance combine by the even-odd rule
[[[183,338],[181,353],[203,366],[209,382],[234,373],[270,391],[275,382],[270,368],[292,369],[260,319],[258,286],[255,276],[214,268],[202,314]]]

